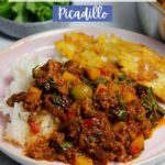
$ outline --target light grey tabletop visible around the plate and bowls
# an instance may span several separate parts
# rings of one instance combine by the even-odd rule
[[[70,23],[68,26],[75,28],[75,26],[84,26],[84,25],[114,26],[114,28],[127,29],[127,30],[139,32],[139,33],[143,33],[139,23],[135,2],[113,3],[113,21],[112,22]],[[0,33],[0,48],[3,48],[12,44],[16,40]],[[163,165],[165,164],[165,162],[161,162],[157,164]],[[19,164],[0,152],[0,165],[19,165]]]

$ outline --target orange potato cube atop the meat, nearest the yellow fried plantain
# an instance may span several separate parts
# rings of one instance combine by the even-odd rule
[[[86,70],[87,70],[88,77],[92,80],[95,80],[101,76],[99,68],[88,67]]]

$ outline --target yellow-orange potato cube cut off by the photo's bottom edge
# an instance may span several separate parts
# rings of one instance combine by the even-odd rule
[[[92,160],[85,155],[79,155],[75,158],[74,165],[94,165]]]

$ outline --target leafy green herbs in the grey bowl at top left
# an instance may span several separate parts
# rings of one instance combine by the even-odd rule
[[[9,2],[0,1],[0,16],[15,22],[42,22],[53,19],[53,6],[67,6],[70,2]]]

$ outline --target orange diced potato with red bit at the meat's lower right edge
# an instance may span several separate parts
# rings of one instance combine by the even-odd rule
[[[141,134],[138,136],[131,144],[131,153],[133,155],[140,154],[142,150],[144,150],[144,136]]]

